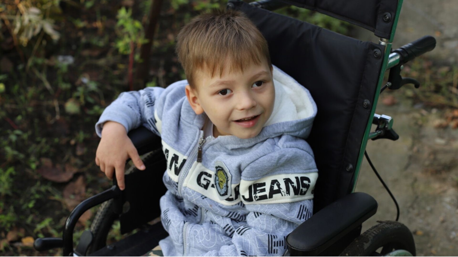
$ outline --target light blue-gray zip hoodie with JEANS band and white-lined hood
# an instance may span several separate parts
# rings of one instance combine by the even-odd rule
[[[318,177],[304,140],[316,116],[307,89],[273,67],[273,113],[251,139],[203,138],[207,119],[185,96],[186,80],[121,93],[96,124],[145,126],[162,138],[168,191],[160,200],[164,256],[278,256],[312,214]],[[202,160],[197,161],[199,148]],[[152,182],[154,183],[154,182]]]

